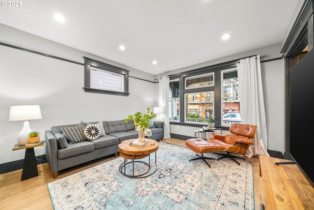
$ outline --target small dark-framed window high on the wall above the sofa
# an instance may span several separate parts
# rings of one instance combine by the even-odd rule
[[[84,91],[128,96],[129,70],[97,60],[85,59]]]

